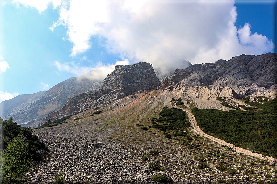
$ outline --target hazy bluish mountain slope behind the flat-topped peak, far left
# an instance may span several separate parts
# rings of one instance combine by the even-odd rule
[[[91,91],[100,86],[100,80],[88,79],[84,76],[69,78],[53,86],[48,91],[34,94],[18,95],[1,102],[0,112],[3,119],[11,116],[17,124],[33,127],[50,112],[57,111],[69,97]]]

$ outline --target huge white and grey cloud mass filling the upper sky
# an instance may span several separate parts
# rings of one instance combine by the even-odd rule
[[[66,2],[51,30],[67,28],[71,56],[88,51],[92,37],[123,59],[164,68],[178,68],[180,59],[206,63],[274,49],[266,36],[251,33],[250,23],[235,26],[234,0]]]

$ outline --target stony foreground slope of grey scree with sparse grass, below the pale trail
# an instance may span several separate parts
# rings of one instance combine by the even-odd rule
[[[33,134],[49,147],[49,154],[42,151],[44,159],[31,164],[31,171],[27,175],[33,178],[26,184],[52,184],[58,173],[63,173],[66,184],[155,184],[159,183],[151,179],[155,174],[166,175],[172,183],[188,184],[216,184],[224,180],[227,183],[257,183],[258,181],[270,183],[275,179],[274,167],[259,164],[259,159],[256,157],[250,158],[228,151],[227,147],[200,137],[193,132],[192,127],[190,131],[191,135],[194,135],[194,141],[197,139],[200,139],[198,140],[200,142],[204,141],[203,147],[215,145],[212,148],[207,147],[207,150],[201,150],[198,147],[188,149],[183,145],[175,144],[178,141],[174,139],[163,138],[161,136],[163,133],[159,131],[156,132],[156,137],[153,136],[152,141],[142,138],[143,141],[134,142],[132,139],[135,137],[131,138],[130,135],[144,135],[148,139],[147,133],[152,132],[143,132],[141,128],[135,126],[135,132],[124,133],[125,130],[122,132],[124,128],[120,123],[114,126],[106,126],[106,123],[97,125],[97,123],[101,124],[99,120],[94,123],[73,121],[55,127],[35,129]],[[105,131],[101,131],[103,126],[106,127]],[[147,161],[142,161],[144,153],[149,155],[149,146],[153,150],[161,150],[162,155],[149,156]],[[217,156],[207,157],[205,154],[210,152],[210,149],[215,152],[213,155],[217,154]],[[199,157],[201,154],[205,156],[204,162],[194,158],[197,154]],[[164,167],[162,172],[149,169],[149,163],[157,161]],[[250,161],[255,161],[255,165],[249,166]],[[199,169],[203,163],[210,166]],[[227,170],[218,170],[216,167],[219,163],[224,165],[230,163],[230,168],[237,168],[237,174],[228,174]],[[250,181],[246,181],[244,178],[249,176],[250,168],[253,169],[254,175],[251,174]]]

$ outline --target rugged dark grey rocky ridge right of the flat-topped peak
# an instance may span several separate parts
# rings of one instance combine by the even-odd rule
[[[176,85],[230,87],[243,98],[258,88],[274,89],[277,81],[277,54],[245,54],[215,63],[195,64],[186,69],[176,69],[168,77]]]

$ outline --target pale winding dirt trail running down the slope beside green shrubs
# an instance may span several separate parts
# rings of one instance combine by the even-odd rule
[[[230,143],[227,143],[225,142],[224,140],[221,140],[221,139],[217,139],[213,136],[209,136],[208,134],[205,134],[200,128],[199,126],[196,125],[196,120],[194,118],[194,115],[191,113],[191,111],[189,110],[185,110],[187,112],[187,115],[189,116],[189,119],[190,119],[190,123],[191,123],[191,126],[193,127],[194,131],[198,134],[200,134],[201,136],[204,136],[204,137],[207,137],[221,145],[228,145],[230,146],[231,148],[233,148],[233,150],[235,150],[236,152],[238,153],[243,153],[245,155],[250,155],[250,156],[254,156],[254,157],[258,157],[258,158],[261,158],[261,159],[268,159],[268,161],[273,164],[275,163],[275,169],[277,169],[277,159],[276,158],[272,158],[272,157],[267,157],[267,156],[263,156],[262,154],[258,154],[258,153],[252,153],[251,151],[249,150],[246,150],[246,149],[242,149],[242,148],[239,148],[239,147],[236,147],[234,146],[233,144],[230,144]]]

